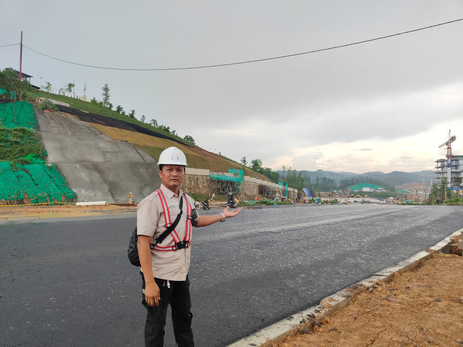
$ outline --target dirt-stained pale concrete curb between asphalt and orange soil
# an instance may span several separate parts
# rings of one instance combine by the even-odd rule
[[[451,235],[444,238],[444,240],[436,243],[434,246],[421,251],[407,260],[403,260],[393,266],[386,267],[385,269],[378,271],[373,276],[364,279],[363,281],[344,288],[328,297],[325,297],[320,301],[319,305],[309,307],[307,310],[303,310],[295,313],[293,316],[289,316],[276,322],[266,328],[263,328],[256,333],[244,337],[243,339],[236,341],[227,347],[272,347],[275,343],[281,343],[287,336],[295,335],[298,330],[312,328],[312,322],[319,322],[329,316],[332,312],[345,307],[350,303],[352,298],[355,297],[356,290],[359,287],[371,288],[378,281],[389,282],[394,278],[394,273],[404,273],[413,271],[418,264],[426,259],[431,258],[432,253],[449,253],[451,238],[457,235],[463,234],[463,228],[457,230]]]

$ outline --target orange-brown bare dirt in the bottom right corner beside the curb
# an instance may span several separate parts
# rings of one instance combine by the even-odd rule
[[[273,347],[463,346],[463,257],[433,254]]]

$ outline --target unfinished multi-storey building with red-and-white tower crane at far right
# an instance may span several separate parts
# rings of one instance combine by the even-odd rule
[[[463,175],[463,155],[452,154],[451,143],[457,139],[457,136],[450,133],[447,135],[446,141],[439,146],[439,148],[447,146],[447,154],[445,159],[438,159],[436,163],[436,179],[440,184],[443,177],[447,177],[447,186],[450,188],[455,183],[455,177]]]

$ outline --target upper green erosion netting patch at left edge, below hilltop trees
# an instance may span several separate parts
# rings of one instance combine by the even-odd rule
[[[9,129],[18,127],[37,129],[34,106],[25,101],[0,104],[0,126]]]

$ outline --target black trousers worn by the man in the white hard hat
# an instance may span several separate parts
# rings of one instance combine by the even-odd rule
[[[143,279],[142,288],[145,289],[145,280],[143,273],[140,272]],[[166,324],[167,307],[170,304],[172,310],[172,324],[174,326],[174,335],[177,346],[194,347],[193,331],[191,330],[191,320],[193,314],[191,310],[190,299],[190,280],[169,281],[170,288],[167,287],[167,281],[164,279],[154,279],[159,287],[161,300],[159,306],[150,306],[145,301],[143,293],[142,304],[146,308],[145,323],[145,346],[146,347],[163,347],[164,346],[164,326]]]

